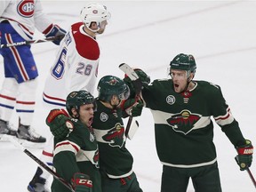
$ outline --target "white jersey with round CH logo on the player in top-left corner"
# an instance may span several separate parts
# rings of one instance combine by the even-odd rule
[[[43,32],[52,24],[39,0],[1,0],[0,22],[2,20],[8,20],[25,40],[33,38],[35,28]]]

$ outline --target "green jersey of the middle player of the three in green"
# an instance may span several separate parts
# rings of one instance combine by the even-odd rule
[[[96,102],[92,127],[100,150],[100,170],[112,179],[127,177],[132,174],[133,158],[125,148],[122,111],[106,108],[100,100]]]

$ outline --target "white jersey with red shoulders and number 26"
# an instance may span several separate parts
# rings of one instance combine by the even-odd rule
[[[60,50],[44,84],[46,103],[65,106],[69,92],[94,92],[100,47],[83,27],[82,22],[73,24],[60,43]]]

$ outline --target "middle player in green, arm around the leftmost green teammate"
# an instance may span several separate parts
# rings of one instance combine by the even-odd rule
[[[125,147],[126,136],[120,108],[120,103],[130,95],[129,87],[116,76],[103,76],[97,89],[99,97],[96,99],[97,111],[94,112],[92,128],[100,151],[102,192],[142,192],[132,171],[132,154]],[[50,124],[52,134],[55,138],[66,137],[66,122],[69,120],[60,114],[52,118],[56,122]]]

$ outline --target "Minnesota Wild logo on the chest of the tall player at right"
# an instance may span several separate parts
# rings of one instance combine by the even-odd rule
[[[191,132],[201,115],[192,114],[189,110],[182,110],[178,114],[172,115],[167,119],[167,123],[172,126],[175,132],[182,132],[185,135]]]

